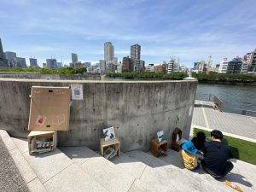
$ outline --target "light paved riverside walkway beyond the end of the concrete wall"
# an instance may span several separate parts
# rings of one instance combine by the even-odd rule
[[[212,102],[195,100],[192,124],[256,139],[256,118],[234,113],[221,113],[213,109]]]

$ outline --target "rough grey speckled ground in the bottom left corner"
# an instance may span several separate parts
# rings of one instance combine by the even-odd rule
[[[15,166],[15,161],[3,143],[2,137],[0,137],[0,170],[0,191],[29,191],[18,168]]]

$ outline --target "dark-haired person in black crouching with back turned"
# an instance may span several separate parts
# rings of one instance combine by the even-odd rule
[[[202,149],[204,157],[201,160],[201,166],[212,177],[221,178],[233,169],[233,164],[228,161],[233,158],[233,155],[230,147],[222,142],[221,131],[213,130],[211,137],[212,142],[206,142]]]

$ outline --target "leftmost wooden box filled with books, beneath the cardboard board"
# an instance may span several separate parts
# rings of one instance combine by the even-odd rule
[[[51,147],[47,150],[40,150],[37,149],[38,144],[35,143],[36,141],[41,142],[49,142],[52,141]],[[27,136],[27,143],[28,143],[28,151],[29,154],[34,153],[44,153],[47,151],[52,151],[57,147],[57,131],[31,131]]]

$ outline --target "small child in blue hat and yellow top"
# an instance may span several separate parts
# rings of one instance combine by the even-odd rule
[[[194,144],[190,141],[185,141],[180,147],[180,155],[183,165],[189,170],[195,170],[198,168],[199,164],[197,164],[195,154],[201,154],[201,151],[197,150]]]

